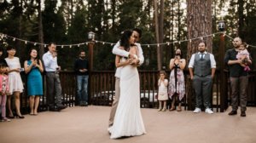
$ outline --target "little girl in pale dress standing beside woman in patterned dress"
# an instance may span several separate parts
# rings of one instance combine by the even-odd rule
[[[159,109],[158,111],[166,112],[166,100],[168,100],[167,93],[168,79],[166,79],[166,72],[160,72],[160,79],[158,80],[158,100],[159,100]],[[164,106],[162,107],[162,102]]]

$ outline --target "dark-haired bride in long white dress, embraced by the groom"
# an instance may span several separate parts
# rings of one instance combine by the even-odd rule
[[[120,49],[134,54],[133,59],[125,59],[116,55],[115,64],[122,67],[120,70],[120,97],[113,126],[108,128],[111,139],[123,136],[145,134],[143,117],[140,110],[140,84],[137,66],[134,63],[138,49],[134,44],[132,31],[124,31],[120,39]]]

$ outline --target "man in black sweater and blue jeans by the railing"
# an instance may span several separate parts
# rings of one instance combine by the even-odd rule
[[[77,74],[79,106],[88,106],[88,60],[85,60],[85,52],[81,50],[79,59],[74,63],[74,71]]]

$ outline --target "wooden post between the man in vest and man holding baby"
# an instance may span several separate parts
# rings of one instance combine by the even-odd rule
[[[226,107],[226,81],[224,77],[224,33],[220,34],[220,45],[219,45],[219,73],[220,73],[220,112],[224,112]]]

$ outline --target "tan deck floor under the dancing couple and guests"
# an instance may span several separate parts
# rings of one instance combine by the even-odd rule
[[[147,134],[109,139],[108,106],[69,107],[0,123],[1,143],[255,143],[256,108],[247,117],[142,109]]]

